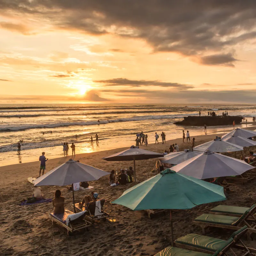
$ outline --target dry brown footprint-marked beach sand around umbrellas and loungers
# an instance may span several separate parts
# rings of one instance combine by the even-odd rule
[[[202,144],[215,138],[215,135],[195,136],[196,145]],[[162,153],[170,144],[177,143],[180,150],[190,147],[182,139],[170,140],[166,144],[149,144],[143,149]],[[250,149],[250,150],[249,150]],[[76,156],[76,160],[110,172],[132,166],[132,162],[107,162],[102,157],[114,154],[122,149],[114,149]],[[256,151],[256,147],[247,148],[248,151]],[[234,156],[234,153],[226,155]],[[39,154],[40,156],[40,154]],[[47,156],[47,152],[46,152]],[[237,152],[237,157],[240,157]],[[67,161],[70,157],[49,159],[46,162],[46,171]],[[141,182],[155,175],[156,159],[137,161],[137,181]],[[0,167],[0,255],[154,255],[156,252],[171,245],[170,217],[169,214],[160,214],[148,219],[143,211],[133,212],[121,205],[110,202],[122,195],[123,191],[130,188],[126,186],[110,187],[108,176],[100,180],[90,182],[93,190],[99,193],[99,198],[105,198],[104,209],[110,213],[116,222],[100,221],[89,228],[89,231],[66,236],[64,229],[52,226],[48,218],[52,212],[52,203],[33,204],[19,206],[22,198],[31,195],[32,184],[27,181],[28,177],[37,177],[39,174],[39,161],[25,164],[15,164]],[[232,192],[228,193],[228,200],[221,204],[249,207],[255,203],[256,181],[242,185],[236,183]],[[72,192],[65,187],[44,186],[41,187],[44,198],[53,198],[56,189],[60,189],[65,197],[65,208],[72,209]],[[75,192],[75,200],[79,202],[85,194],[91,190]],[[164,193],[164,191],[163,191]],[[219,204],[219,203],[216,203]],[[174,210],[172,213],[174,223],[174,238],[188,233],[202,234],[199,226],[193,225],[192,221],[198,215],[208,212],[210,204],[197,206],[191,210]],[[232,231],[219,228],[209,228],[208,236],[227,239]],[[256,237],[254,238],[256,239]],[[244,243],[256,248],[254,241],[246,240]]]

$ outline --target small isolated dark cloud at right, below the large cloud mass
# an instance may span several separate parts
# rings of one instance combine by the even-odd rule
[[[224,65],[235,67],[233,64],[234,61],[237,60],[232,56],[231,53],[208,55],[200,58],[200,63],[204,65]]]

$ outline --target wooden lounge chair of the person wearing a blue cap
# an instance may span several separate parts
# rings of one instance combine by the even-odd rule
[[[105,221],[107,217],[109,217],[109,213],[105,212],[103,210],[103,205],[105,203],[105,199],[97,200],[100,201],[101,204],[101,215],[95,216],[95,207],[96,207],[96,202],[89,202],[86,206],[83,206],[82,209],[79,208],[79,203],[75,204],[75,207],[77,211],[82,212],[82,211],[87,211],[86,212],[86,219],[88,219],[90,222],[94,222],[95,220],[103,220]]]

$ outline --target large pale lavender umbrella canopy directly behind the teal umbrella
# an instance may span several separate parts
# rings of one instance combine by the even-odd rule
[[[212,151],[205,151],[198,156],[172,167],[172,170],[197,179],[240,175],[254,166],[233,157]]]

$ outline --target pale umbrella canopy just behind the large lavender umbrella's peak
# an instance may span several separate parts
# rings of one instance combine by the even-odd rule
[[[204,144],[198,145],[194,148],[194,150],[197,151],[206,151],[210,150],[212,152],[234,152],[234,151],[240,151],[244,148],[238,145],[235,145],[235,143],[230,143],[231,141],[224,141],[220,139],[219,137],[216,137],[216,139],[208,141]]]

